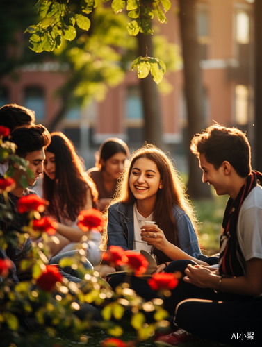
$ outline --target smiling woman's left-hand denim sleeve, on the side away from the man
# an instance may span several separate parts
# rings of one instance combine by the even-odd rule
[[[118,214],[113,206],[108,209],[108,245],[121,246],[124,250],[128,250],[127,239],[125,237],[126,225],[124,224],[124,217]]]

